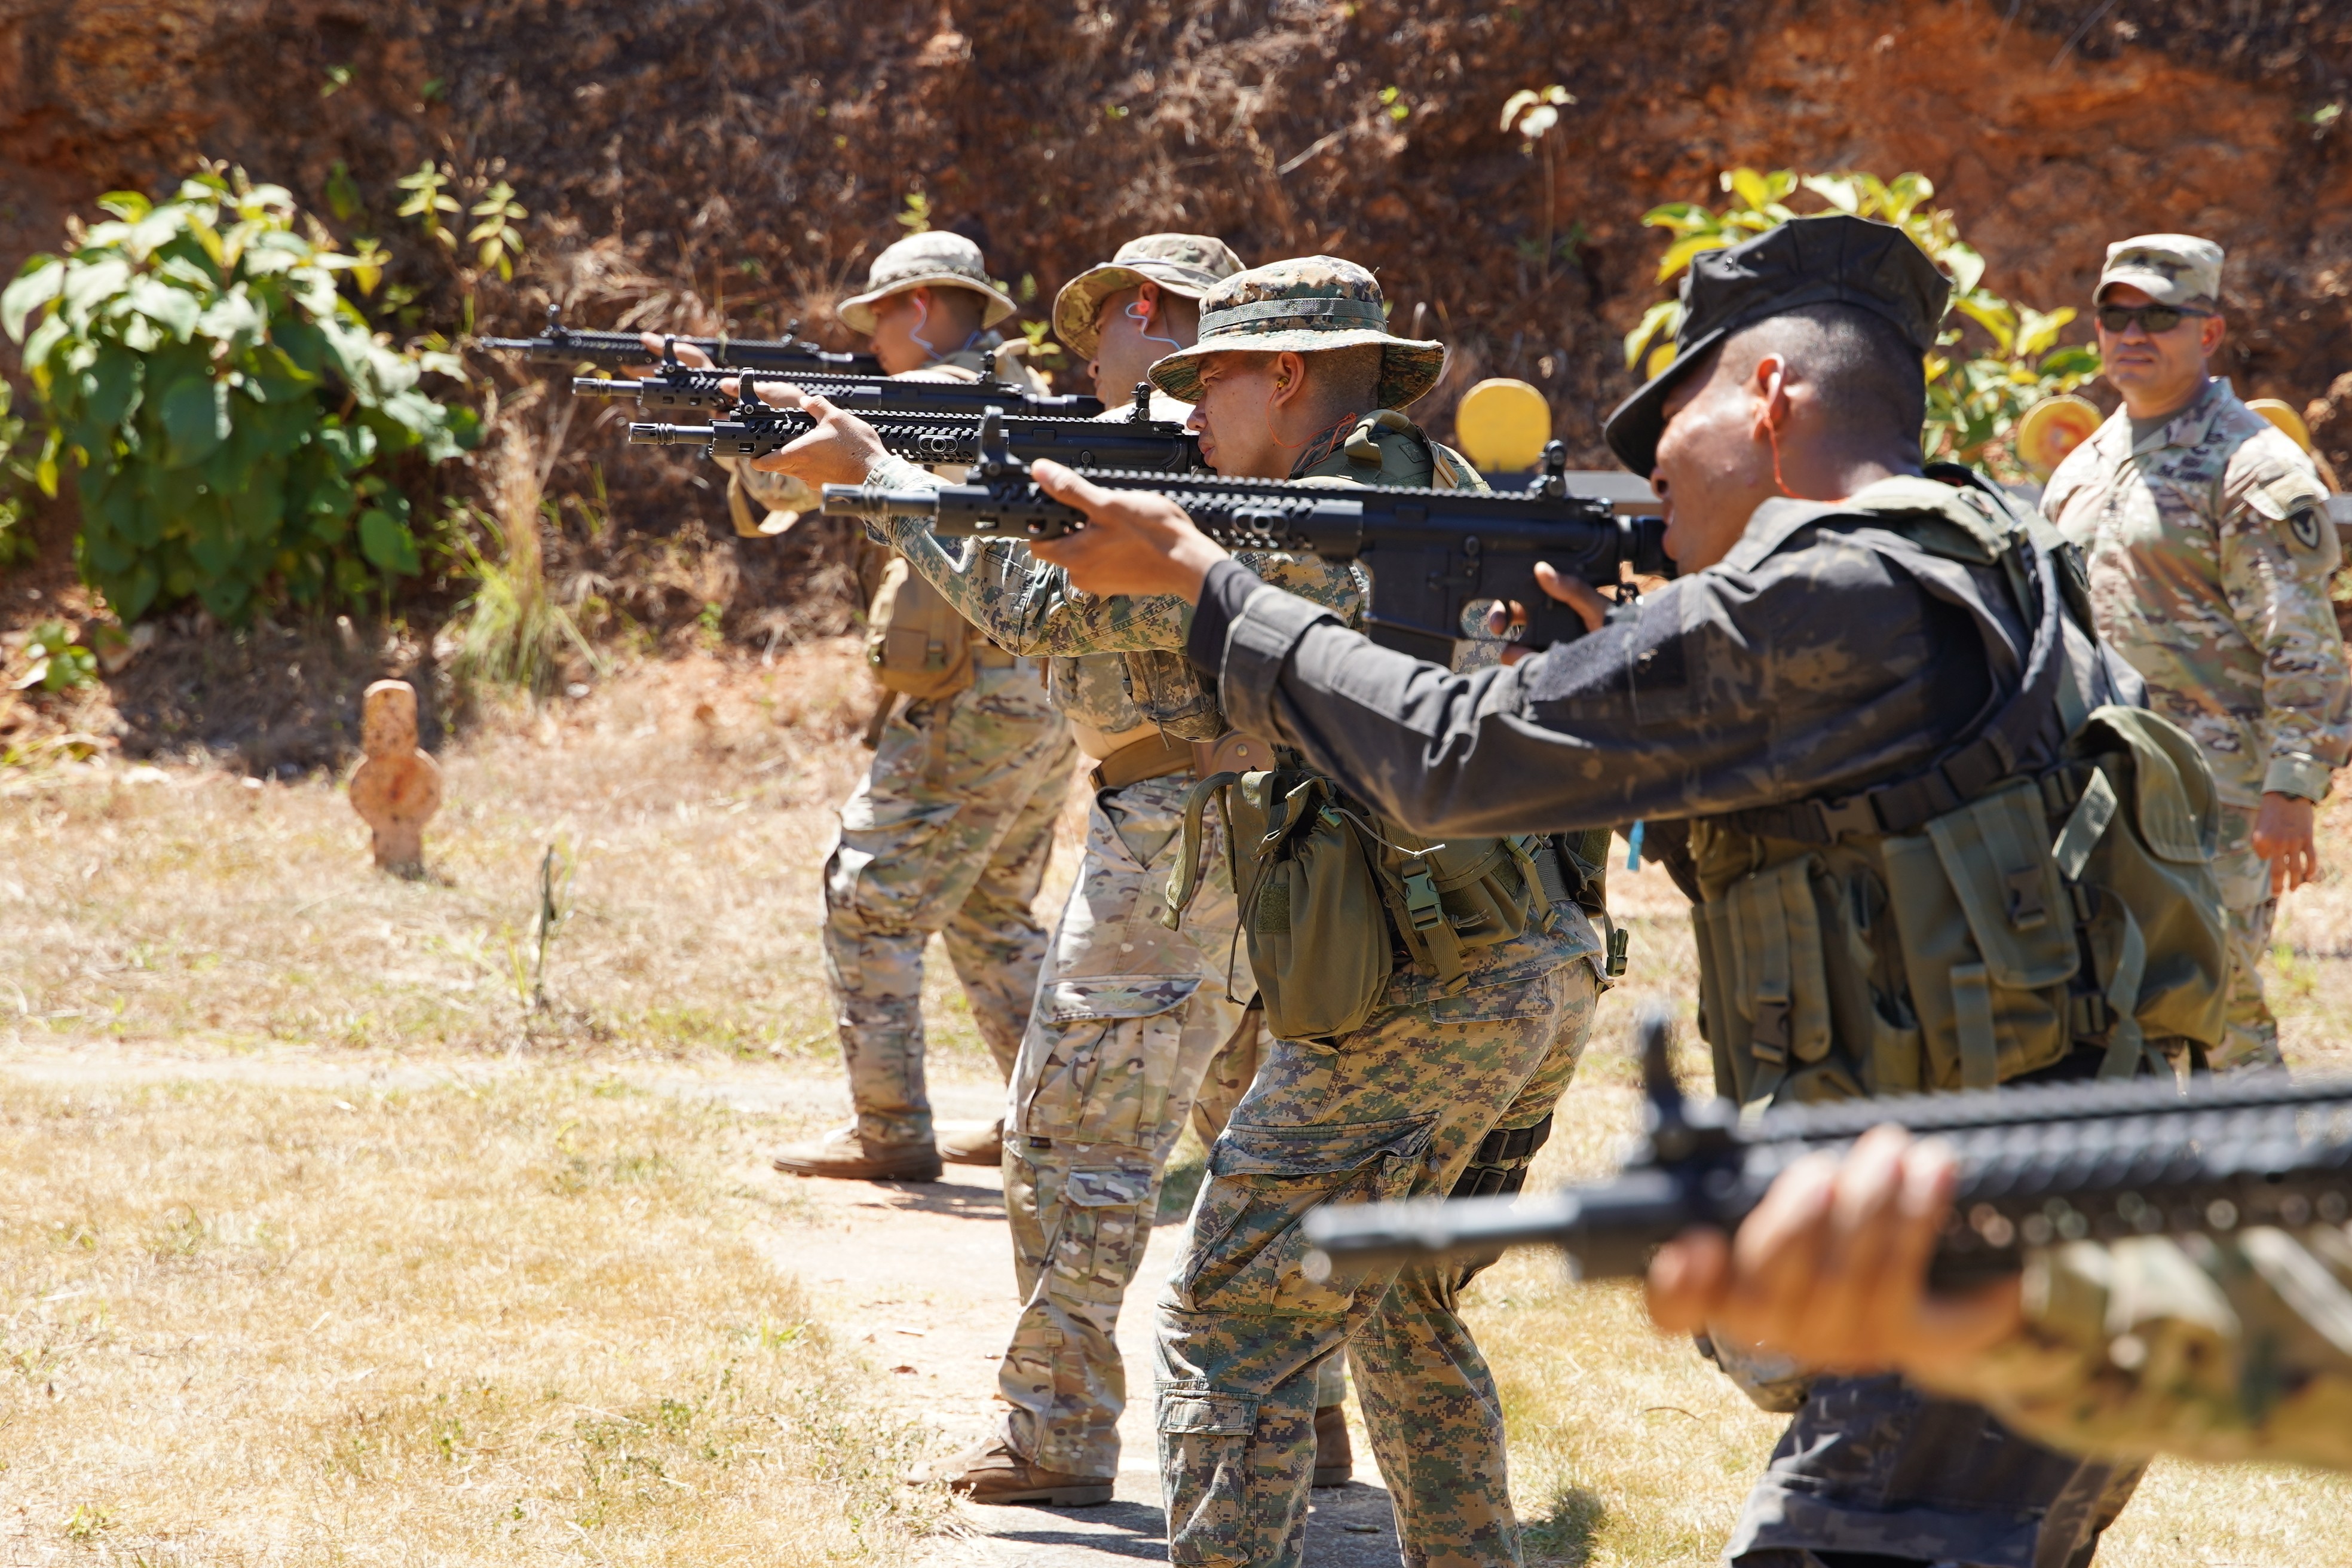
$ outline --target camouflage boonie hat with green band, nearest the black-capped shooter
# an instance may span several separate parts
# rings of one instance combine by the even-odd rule
[[[1223,353],[1324,353],[1381,346],[1381,386],[1374,400],[1402,409],[1437,386],[1446,367],[1444,343],[1399,339],[1388,331],[1381,284],[1371,273],[1338,256],[1301,256],[1235,273],[1200,301],[1200,341],[1152,367],[1152,381],[1169,397],[1200,402],[1200,362]]]

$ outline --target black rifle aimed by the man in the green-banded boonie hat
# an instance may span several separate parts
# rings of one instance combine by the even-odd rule
[[[1141,407],[1141,404],[1138,404]],[[910,463],[978,463],[981,421],[938,414],[866,416],[891,456]],[[755,404],[734,418],[708,425],[635,423],[628,440],[635,447],[701,447],[706,456],[757,458],[807,435],[816,421]],[[1200,440],[1183,425],[1157,418],[1028,418],[1000,416],[997,433],[1016,463],[1054,458],[1073,468],[1131,468],[1152,473],[1190,473],[1202,468]],[[828,508],[830,510],[830,508]]]

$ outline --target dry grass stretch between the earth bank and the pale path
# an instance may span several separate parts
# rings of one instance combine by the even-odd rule
[[[0,780],[0,1041],[826,1056],[816,872],[870,701],[828,639],[494,715],[442,757],[419,884],[325,778]],[[579,872],[534,1013],[550,844]],[[983,1063],[931,969],[941,1056]]]

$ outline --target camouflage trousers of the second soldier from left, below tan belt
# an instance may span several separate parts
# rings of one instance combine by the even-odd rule
[[[1120,1467],[1120,1302],[1150,1241],[1160,1175],[1188,1114],[1202,1140],[1216,1138],[1258,1058],[1258,1013],[1244,1013],[1256,985],[1235,943],[1214,813],[1200,896],[1181,931],[1160,924],[1190,788],[1174,776],[1096,795],[1004,1117],[1023,1307],[997,1371],[1002,1436],[1063,1474]]]

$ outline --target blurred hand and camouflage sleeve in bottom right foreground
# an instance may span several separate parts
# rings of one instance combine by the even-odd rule
[[[1661,1328],[1740,1333],[1811,1363],[1900,1371],[2056,1448],[2352,1472],[2352,1234],[2067,1241],[2023,1279],[1929,1295],[1952,1157],[1898,1126],[1783,1173],[1736,1241],[1649,1274]],[[1835,1260],[1835,1262],[1825,1262]]]

